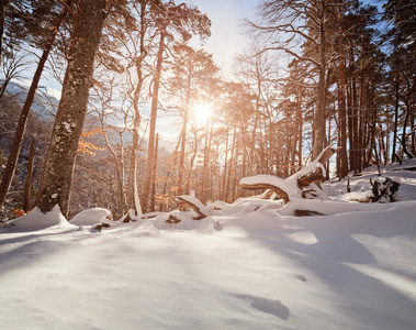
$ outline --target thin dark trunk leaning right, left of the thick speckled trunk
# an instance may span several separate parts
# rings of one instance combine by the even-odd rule
[[[15,167],[18,165],[20,148],[22,146],[24,132],[26,130],[29,112],[31,111],[31,107],[32,107],[33,100],[34,100],[35,95],[36,95],[37,85],[41,80],[43,69],[45,67],[47,57],[49,56],[49,53],[50,53],[52,47],[54,45],[54,42],[55,42],[56,35],[58,33],[59,26],[60,26],[64,18],[66,16],[66,14],[67,14],[67,12],[64,9],[64,11],[60,13],[59,18],[55,22],[55,30],[54,30],[55,32],[50,35],[48,43],[45,45],[45,50],[42,53],[42,56],[41,56],[40,62],[38,62],[37,67],[36,67],[36,72],[33,76],[31,87],[29,88],[26,100],[24,101],[24,105],[22,108],[22,113],[20,114],[20,119],[18,122],[18,128],[16,128],[16,131],[14,133],[14,140],[13,140],[12,148],[11,148],[11,152],[10,152],[10,155],[8,158],[8,164],[7,164],[7,167],[3,172],[3,177],[2,177],[1,184],[0,184],[0,209],[4,202],[5,196],[10,189],[10,185],[11,185],[13,176],[14,176]]]

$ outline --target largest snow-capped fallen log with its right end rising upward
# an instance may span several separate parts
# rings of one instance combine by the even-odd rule
[[[310,165],[286,179],[273,175],[255,175],[241,178],[239,185],[249,190],[269,189],[284,204],[300,197],[323,198],[325,194],[322,191],[321,183],[326,176],[325,164],[339,150],[340,147],[328,146]],[[267,195],[270,196],[270,194]]]

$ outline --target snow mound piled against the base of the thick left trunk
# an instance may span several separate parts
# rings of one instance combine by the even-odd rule
[[[30,213],[10,221],[7,224],[7,228],[15,228],[16,230],[22,231],[36,231],[49,227],[60,229],[75,228],[67,221],[67,219],[65,219],[58,205],[46,215],[44,215],[38,208],[34,208]]]

